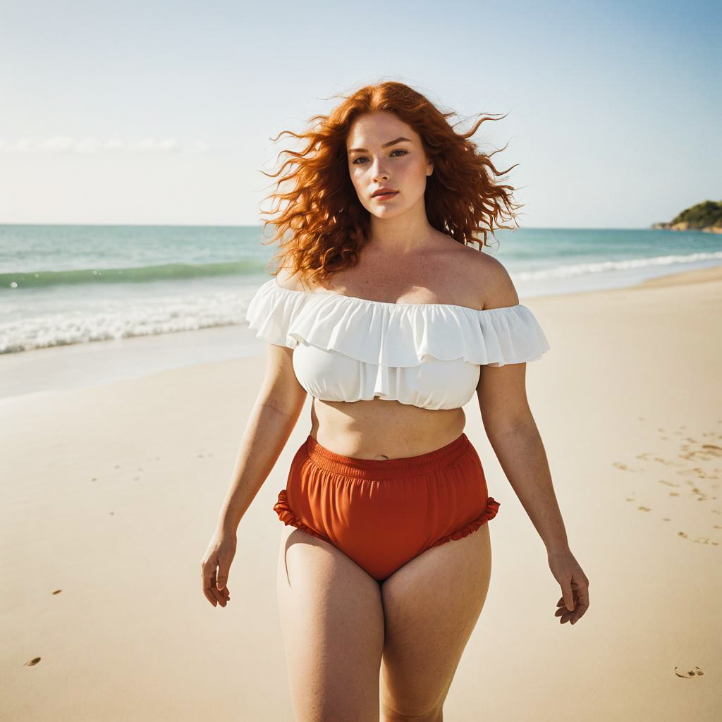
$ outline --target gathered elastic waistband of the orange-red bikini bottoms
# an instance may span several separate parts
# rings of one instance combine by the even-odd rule
[[[406,472],[425,474],[435,471],[440,466],[453,463],[457,458],[469,451],[471,441],[462,432],[461,436],[441,448],[419,456],[405,456],[403,458],[355,458],[334,453],[325,446],[321,446],[310,434],[305,440],[305,449],[308,458],[316,466],[326,471],[334,471],[349,477],[360,479],[394,479],[404,477]]]

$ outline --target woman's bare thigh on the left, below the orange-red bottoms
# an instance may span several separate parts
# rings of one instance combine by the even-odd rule
[[[333,544],[286,526],[277,593],[296,722],[378,721],[378,582]]]

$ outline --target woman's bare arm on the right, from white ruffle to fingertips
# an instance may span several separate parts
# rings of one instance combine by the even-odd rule
[[[547,547],[562,598],[554,616],[574,624],[588,609],[589,580],[564,528],[547,454],[526,399],[526,363],[482,366],[477,386],[484,430],[514,492]]]

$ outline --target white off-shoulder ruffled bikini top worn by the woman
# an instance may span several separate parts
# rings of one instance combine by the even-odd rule
[[[457,409],[474,395],[482,365],[535,361],[549,350],[521,304],[388,303],[291,290],[275,277],[253,295],[245,319],[256,338],[294,349],[298,383],[321,401]]]

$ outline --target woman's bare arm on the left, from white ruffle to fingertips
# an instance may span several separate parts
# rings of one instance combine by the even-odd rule
[[[240,439],[217,528],[201,562],[204,594],[213,606],[225,606],[230,599],[226,582],[238,524],[278,461],[305,398],[293,370],[293,349],[268,344],[264,383]]]

